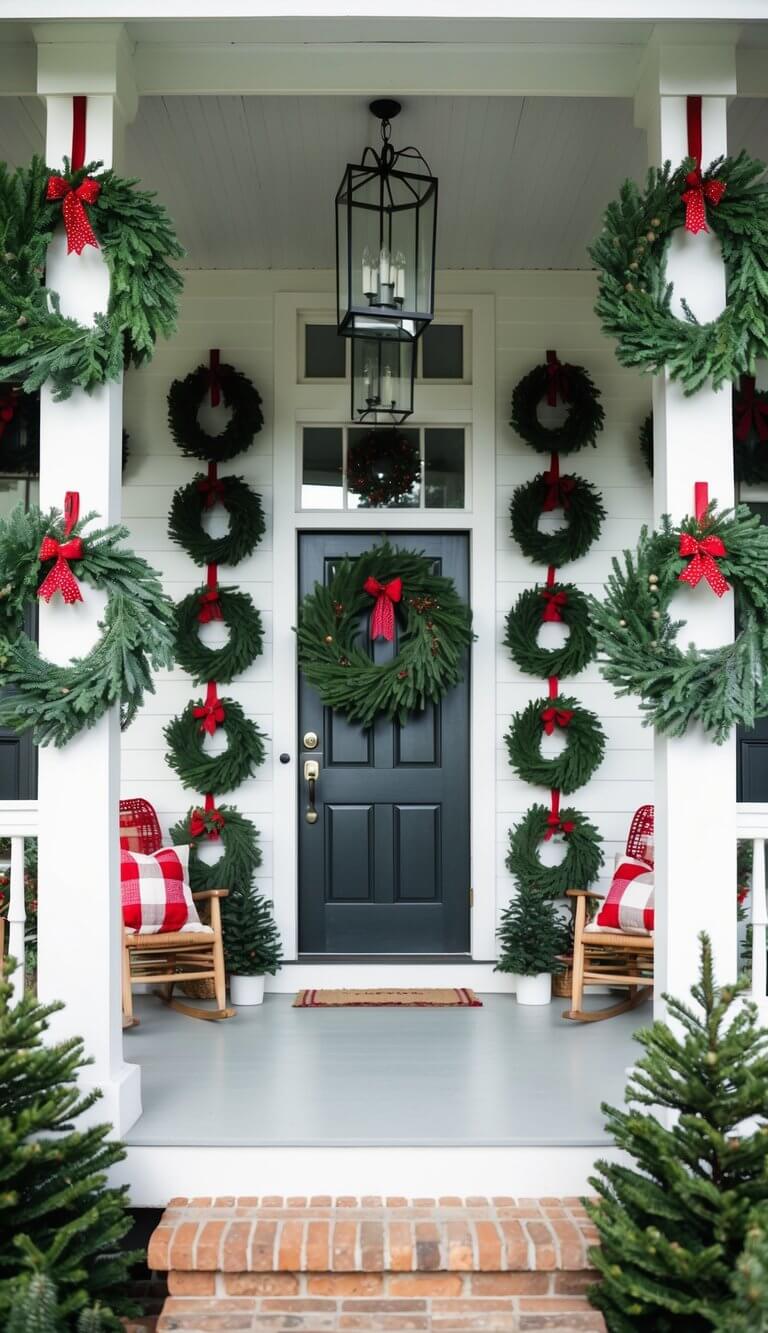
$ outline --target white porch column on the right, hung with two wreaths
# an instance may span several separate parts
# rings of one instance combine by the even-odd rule
[[[727,152],[727,97],[736,92],[729,32],[692,47],[691,29],[663,36],[649,51],[640,120],[649,159],[677,165],[688,152],[685,99],[703,96],[703,167]],[[713,35],[716,37],[716,35]],[[685,297],[696,316],[715,317],[725,304],[725,275],[713,235],[675,233],[668,257],[673,308]],[[693,485],[709,484],[719,508],[733,504],[731,385],[685,397],[667,375],[653,381],[653,512],[675,520],[693,513]],[[680,644],[716,647],[733,637],[733,596],[717,599],[703,581],[681,585],[675,617],[685,619]],[[655,740],[656,804],[656,1013],[661,992],[688,997],[699,969],[697,934],[713,942],[717,976],[736,976],[736,762],[735,738],[715,745],[700,726],[681,738]]]

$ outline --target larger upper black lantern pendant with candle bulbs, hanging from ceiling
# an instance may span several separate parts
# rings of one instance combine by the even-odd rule
[[[437,180],[416,148],[396,151],[391,120],[400,103],[371,103],[381,152],[349,164],[336,195],[339,332],[412,343],[435,313]],[[405,171],[417,164],[423,171]]]

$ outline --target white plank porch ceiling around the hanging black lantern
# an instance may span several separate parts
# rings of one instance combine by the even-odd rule
[[[43,145],[36,99],[0,100],[0,156]],[[356,97],[143,97],[127,169],[168,205],[191,268],[329,268],[333,195],[377,125]],[[768,101],[737,99],[733,149],[768,157]],[[632,103],[412,97],[393,125],[440,180],[440,268],[588,268],[624,176],[641,177]]]

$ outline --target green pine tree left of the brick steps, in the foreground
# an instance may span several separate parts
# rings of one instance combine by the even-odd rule
[[[12,968],[8,960],[0,973],[0,1328],[35,1262],[57,1289],[63,1328],[104,1301],[103,1326],[120,1329],[117,1312],[132,1313],[124,1293],[136,1256],[120,1249],[131,1226],[127,1188],[107,1189],[105,1173],[125,1153],[108,1140],[109,1125],[72,1128],[100,1096],[77,1090],[83,1042],[43,1044],[61,1006],[27,994],[12,1008]]]

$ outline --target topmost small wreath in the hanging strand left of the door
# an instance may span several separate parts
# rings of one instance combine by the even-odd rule
[[[216,369],[224,405],[232,416],[220,435],[209,435],[197,420],[197,413],[211,387],[211,369],[199,365],[183,380],[173,380],[168,391],[168,427],[185,459],[204,463],[225,463],[253,444],[264,425],[261,395],[248,376],[233,365]]]

